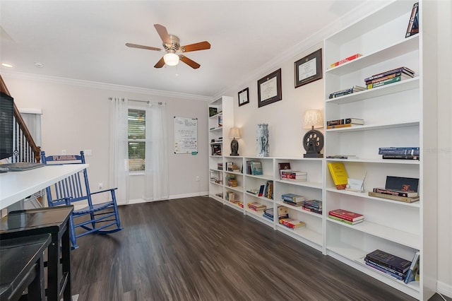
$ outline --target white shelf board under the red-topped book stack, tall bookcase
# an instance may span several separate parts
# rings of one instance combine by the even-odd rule
[[[341,225],[342,227],[347,227],[375,237],[383,238],[383,240],[403,244],[404,246],[411,247],[413,249],[420,249],[420,235],[387,227],[385,225],[370,223],[366,221],[365,218],[366,217],[364,216],[364,221],[356,225],[348,225],[328,217],[326,217],[326,220],[328,220],[329,223],[335,223]]]

